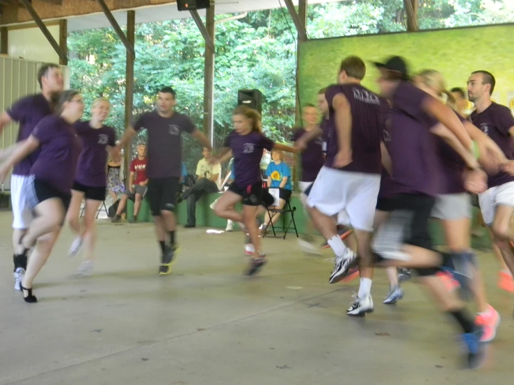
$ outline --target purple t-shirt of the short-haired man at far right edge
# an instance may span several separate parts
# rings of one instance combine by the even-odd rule
[[[469,117],[471,122],[487,134],[501,149],[507,159],[514,160],[514,139],[508,132],[514,127],[514,117],[511,110],[501,104],[492,103],[481,113],[474,110]],[[495,187],[514,181],[514,177],[506,172],[489,175],[488,186]]]

